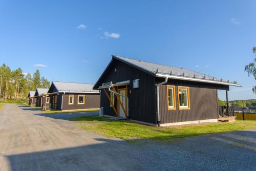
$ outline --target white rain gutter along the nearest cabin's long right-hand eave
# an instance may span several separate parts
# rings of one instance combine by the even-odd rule
[[[171,79],[180,79],[180,80],[188,80],[188,81],[197,81],[197,82],[209,82],[209,83],[215,83],[215,84],[223,84],[228,86],[236,86],[236,87],[242,87],[239,84],[234,84],[231,82],[221,82],[221,81],[214,81],[214,80],[205,80],[205,79],[197,79],[197,78],[187,78],[187,77],[179,77],[179,76],[173,76],[173,75],[164,75],[164,74],[156,74],[157,77],[161,78],[171,78]]]

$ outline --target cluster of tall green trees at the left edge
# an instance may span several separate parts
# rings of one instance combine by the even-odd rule
[[[21,68],[11,70],[5,63],[0,67],[0,98],[22,99],[28,96],[29,91],[49,87],[50,82],[40,76],[39,70],[33,75],[25,75]]]

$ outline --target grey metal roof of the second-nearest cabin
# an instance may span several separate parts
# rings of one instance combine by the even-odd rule
[[[99,93],[98,90],[93,90],[94,84],[59,81],[52,81],[52,83],[58,92]]]

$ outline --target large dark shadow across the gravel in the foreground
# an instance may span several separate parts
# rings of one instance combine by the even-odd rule
[[[185,138],[170,144],[98,138],[93,143],[85,140],[87,145],[70,143],[67,148],[5,157],[11,170],[253,170],[255,138],[251,131]]]

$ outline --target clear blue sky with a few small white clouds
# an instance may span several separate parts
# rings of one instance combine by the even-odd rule
[[[256,1],[0,0],[0,63],[49,80],[94,83],[111,54],[237,80],[255,98]],[[219,93],[224,99],[224,92]]]

